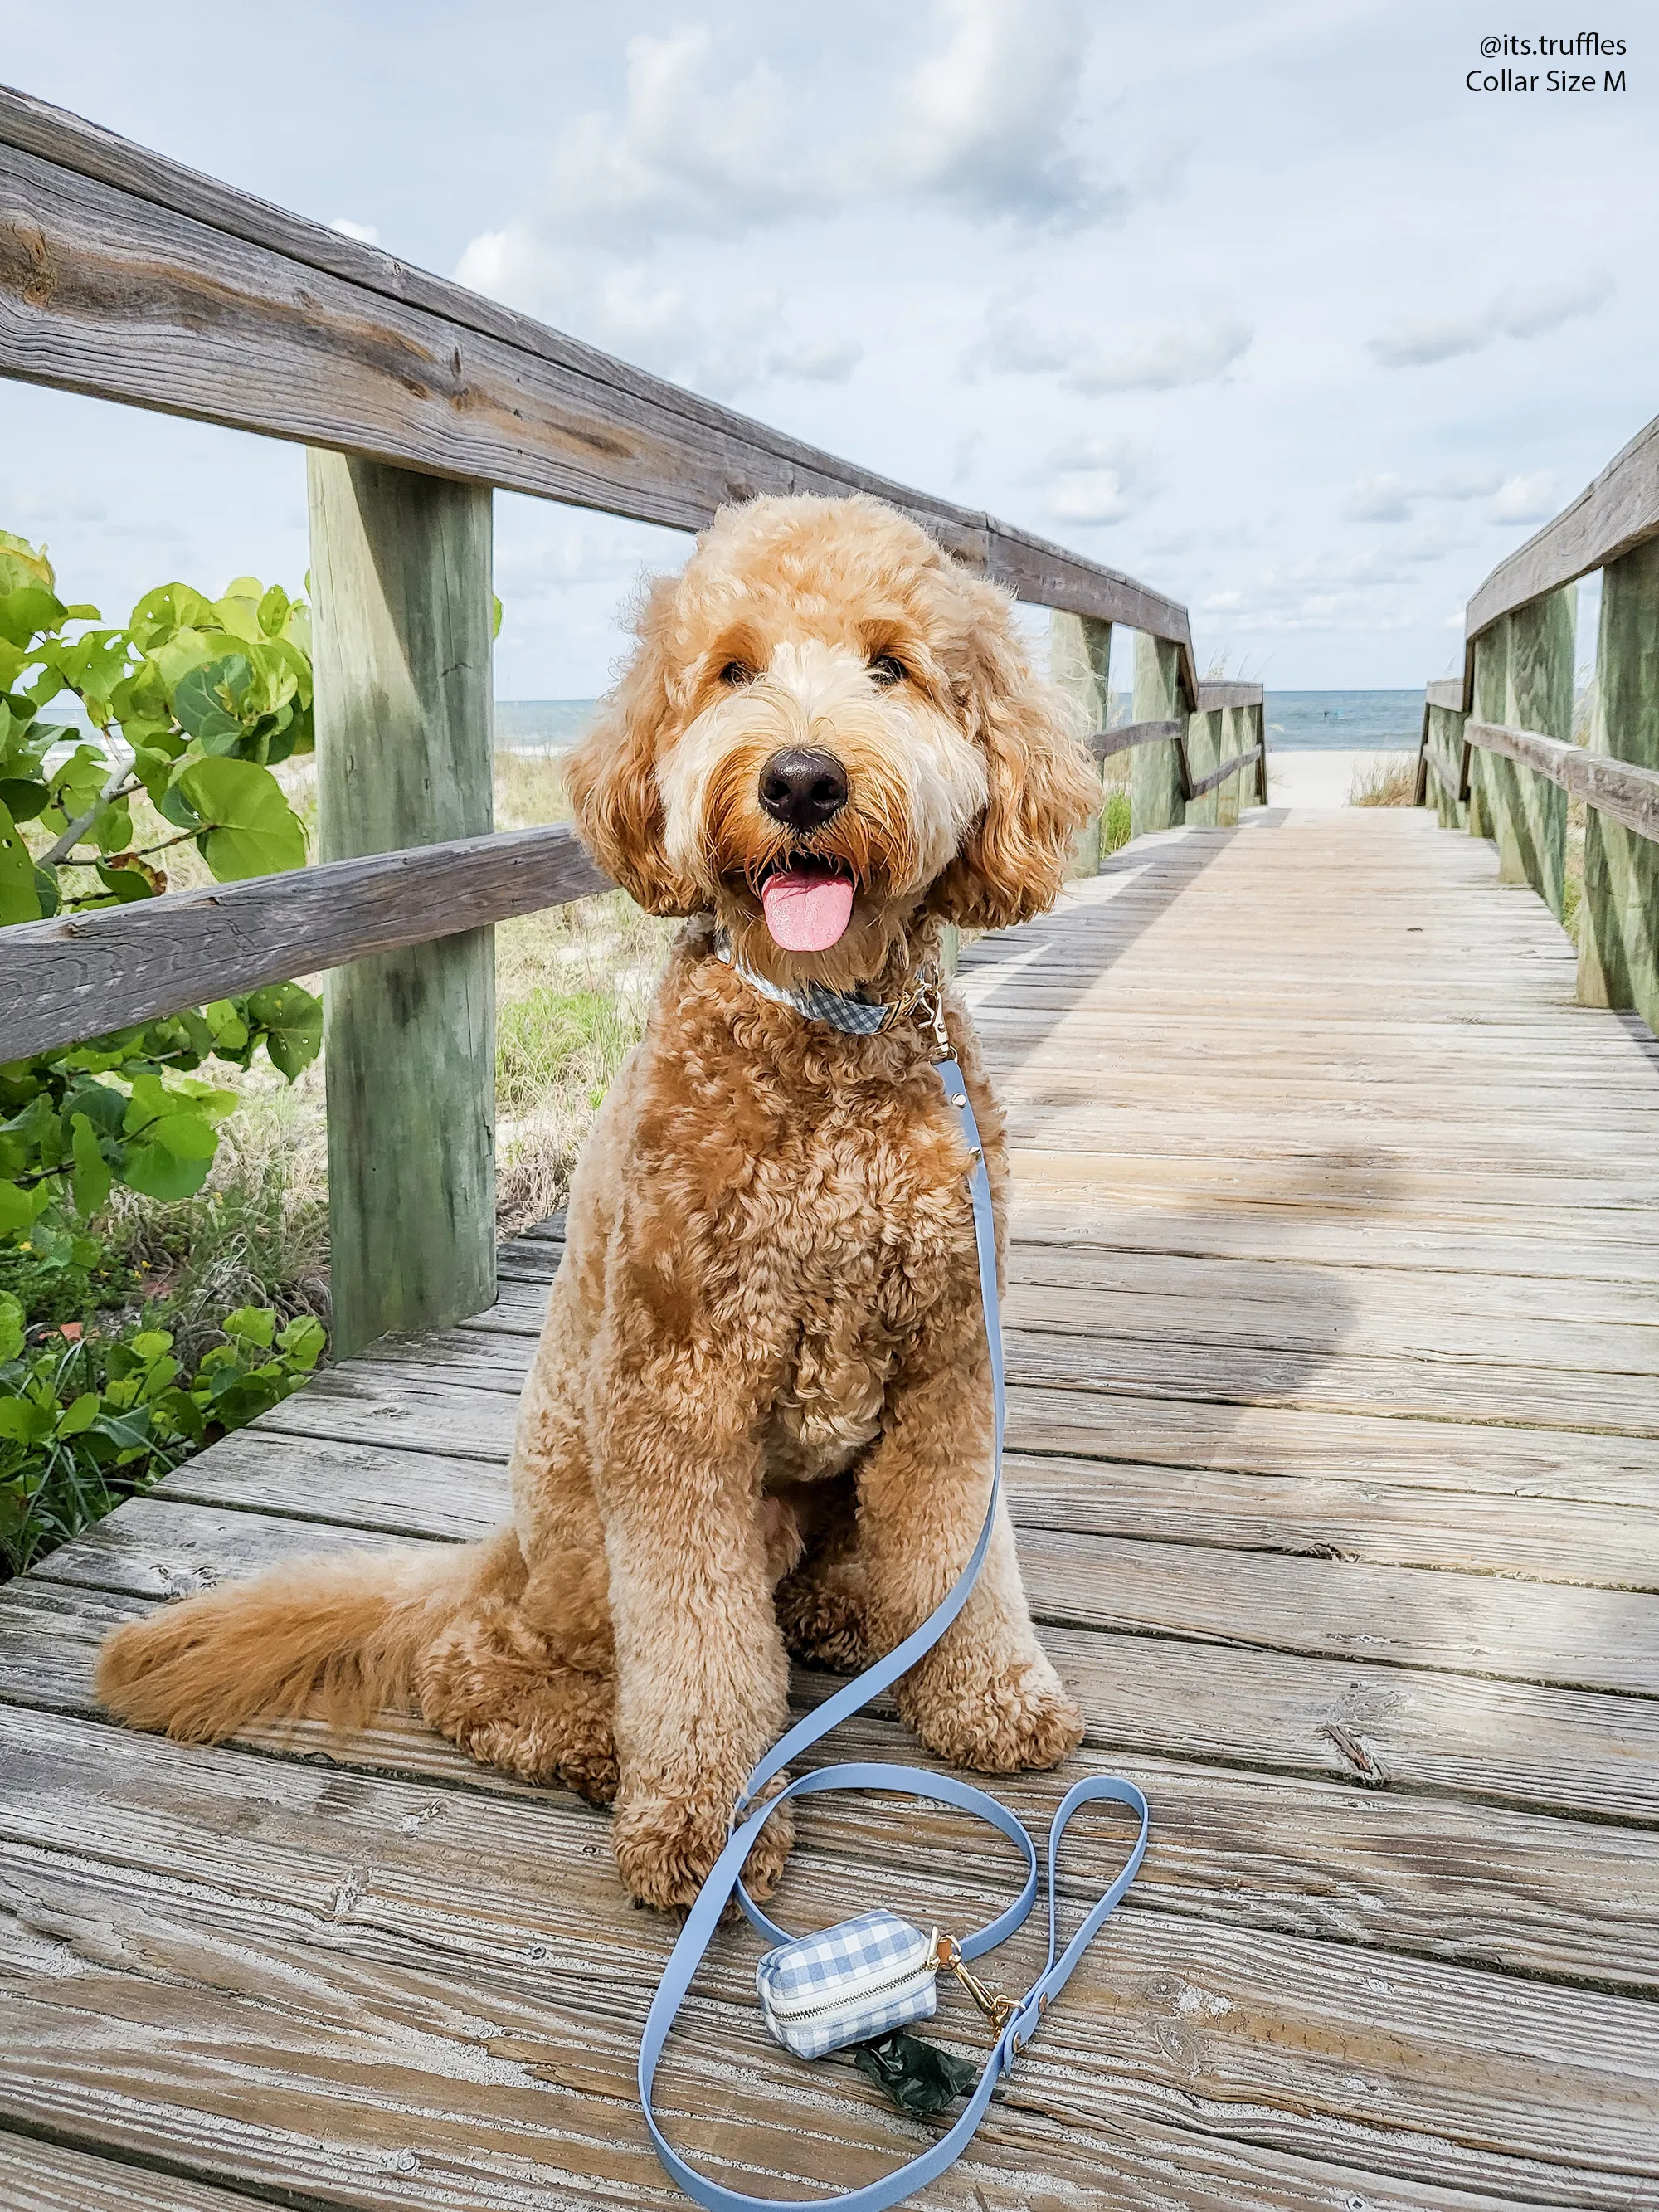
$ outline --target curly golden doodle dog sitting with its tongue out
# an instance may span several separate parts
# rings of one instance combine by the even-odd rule
[[[723,511],[653,586],[568,790],[599,865],[688,922],[571,1190],[511,1526],[168,1606],[108,1639],[97,1688],[186,1741],[414,1699],[473,1759],[615,1798],[624,1882],[670,1907],[785,1725],[787,1655],[889,1650],[980,1531],[967,1157],[907,1002],[945,922],[1051,905],[1099,799],[1006,595],[865,498]],[[900,1013],[843,1033],[812,987]],[[1002,1239],[1002,1115],[949,987],[945,1020]],[[969,1767],[1077,1745],[1006,1509],[898,1705]],[[785,1814],[761,1896],[787,1845]]]

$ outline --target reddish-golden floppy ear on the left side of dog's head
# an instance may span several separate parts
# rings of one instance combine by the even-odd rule
[[[657,577],[639,611],[639,648],[599,719],[564,761],[582,843],[646,914],[695,914],[703,900],[664,849],[657,752],[672,701],[666,630],[677,577]]]

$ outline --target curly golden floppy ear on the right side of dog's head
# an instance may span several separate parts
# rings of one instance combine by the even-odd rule
[[[964,580],[973,630],[960,708],[991,794],[927,909],[964,929],[1006,929],[1060,896],[1077,832],[1099,807],[1099,774],[1071,734],[1064,699],[1031,672],[1009,602]]]

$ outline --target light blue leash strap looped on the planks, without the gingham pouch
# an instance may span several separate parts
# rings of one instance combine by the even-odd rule
[[[1031,2042],[1037,2031],[1037,2022],[1048,2000],[1055,1997],[1084,1955],[1088,1944],[1099,1933],[1102,1922],[1113,1911],[1117,1900],[1124,1896],[1128,1885],[1146,1856],[1146,1798],[1135,1787],[1135,1783],[1119,1781],[1113,1774],[1099,1774],[1091,1781],[1077,1783],[1060,1803],[1060,1812],[1048,1829],[1048,1960],[1044,1971],[1024,1993],[1015,2000],[993,2000],[998,2039],[984,2062],[978,2086],[969,2097],[967,2110],[956,2121],[956,2126],[931,2143],[920,2157],[909,2159],[896,2172],[887,2174],[883,2181],[872,2181],[863,2190],[845,2190],[841,2197],[745,2197],[741,2190],[721,2188],[719,2181],[710,2181],[699,2174],[695,2166],[666,2141],[657,2117],[650,2110],[650,2088],[657,2077],[657,2059],[668,2042],[668,2031],[675,2024],[675,2015],[686,2000],[692,1975],[703,1962],[703,1953],[719,1927],[719,1918],[726,1911],[728,1898],[737,1896],[737,1902],[748,1913],[750,1922],[761,1931],[761,1936],[772,1942],[787,1942],[787,1931],[776,1927],[765,1918],[761,1907],[743,1889],[743,1860],[750,1856],[757,1836],[779,1809],[790,1798],[796,1796],[818,1796],[823,1790],[894,1790],[905,1796],[929,1798],[942,1805],[960,1805],[962,1812],[978,1814],[998,1834],[1006,1836],[1024,1851],[1026,1880],[1013,1905],[998,1913],[987,1927],[978,1929],[973,1936],[964,1936],[958,1947],[960,1960],[982,1958],[987,1951],[995,1949],[1006,1936],[1024,1922],[1037,1896],[1037,1847],[1006,1805],[1000,1805],[984,1790],[973,1790],[969,1783],[958,1783],[949,1774],[927,1774],[920,1767],[891,1767],[869,1761],[852,1761],[838,1767],[818,1767],[814,1774],[801,1774],[796,1781],[779,1790],[776,1796],[768,1798],[765,1805],[750,1812],[757,1796],[781,1774],[783,1767],[807,1745],[827,1736],[830,1730],[845,1721],[849,1714],[858,1712],[883,1690],[891,1688],[900,1674],[909,1672],[916,1661],[929,1652],[945,1630],[951,1626],[956,1615],[969,1601],[969,1590],[984,1564],[984,1555],[991,1546],[991,1533],[995,1528],[998,1500],[1002,1498],[1002,1429],[1004,1429],[1004,1391],[1002,1391],[1002,1321],[998,1310],[998,1261],[995,1261],[995,1228],[991,1217],[991,1181],[984,1172],[984,1150],[980,1146],[980,1130],[973,1121],[973,1108],[969,1106],[967,1082],[956,1060],[949,1055],[949,1044],[942,1037],[942,1022],[936,1024],[940,1037],[940,1057],[933,1062],[933,1071],[945,1084],[945,1097],[956,1110],[962,1128],[962,1139],[971,1155],[969,1194],[973,1199],[973,1239],[980,1254],[980,1298],[984,1305],[984,1340],[991,1349],[991,1398],[995,1409],[995,1453],[991,1462],[991,1500],[984,1509],[984,1526],[969,1555],[967,1566],[956,1579],[951,1593],[942,1604],[922,1621],[922,1626],[905,1637],[905,1641],[878,1659],[874,1666],[865,1668],[854,1681],[845,1683],[832,1699],[799,1721],[785,1736],[781,1736],[772,1750],[761,1759],[761,1763],[750,1774],[743,1785],[743,1794],[732,1812],[732,1836],[714,1860],[708,1880],[697,1893],[697,1902],[686,1916],[686,1924],[679,1931],[679,1942],[672,1949],[664,1978],[657,1986],[657,1995],[650,2000],[650,2013],[646,2015],[646,2031],[639,2037],[639,2104],[646,2115],[646,2126],[650,2128],[650,2139],[657,2146],[657,2157],[672,2179],[708,2212],[821,2212],[825,2205],[836,2205],[838,2212],[885,2212],[887,2205],[909,2197],[911,2190],[922,2188],[927,2181],[938,2179],[949,2166],[953,2166],[969,2141],[973,2130],[984,2117],[984,2108],[991,2104],[991,2090],[998,2086],[1004,2073],[1013,2068],[1020,2051]],[[1060,1838],[1066,1832],[1071,1816],[1091,1803],[1113,1803],[1128,1805],[1130,1812],[1139,1816],[1139,1834],[1135,1847],[1124,1863],[1117,1880],[1110,1885],[1106,1896],[1095,1905],[1084,1924],[1071,1938],[1066,1949],[1055,1955],[1060,1947],[1057,1927],[1057,1889],[1055,1889],[1055,1867],[1060,1858]],[[737,1823],[743,1823],[741,1827]],[[975,1993],[978,1995],[978,1993]],[[980,2000],[982,2002],[982,2000]]]

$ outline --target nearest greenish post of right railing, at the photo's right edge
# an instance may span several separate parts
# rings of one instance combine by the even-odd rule
[[[1590,745],[1659,768],[1659,538],[1601,571]],[[1584,823],[1579,1000],[1635,1006],[1659,1029],[1659,845],[1595,807]]]

